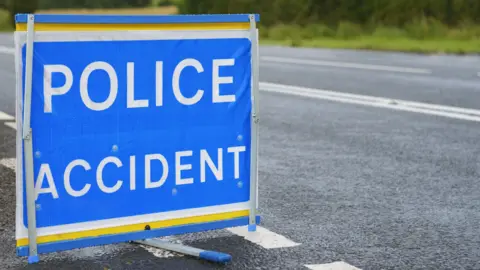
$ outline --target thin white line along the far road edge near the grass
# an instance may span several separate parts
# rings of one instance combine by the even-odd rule
[[[337,61],[324,61],[324,60],[308,60],[308,59],[296,59],[296,58],[283,58],[275,56],[262,56],[262,61],[282,63],[282,64],[299,64],[299,65],[312,65],[312,66],[327,66],[327,67],[339,67],[339,68],[355,68],[377,71],[392,71],[402,73],[413,74],[431,74],[432,71],[423,68],[410,68],[410,67],[398,67],[398,66],[384,66],[384,65],[371,65],[360,64],[351,62],[337,62]]]

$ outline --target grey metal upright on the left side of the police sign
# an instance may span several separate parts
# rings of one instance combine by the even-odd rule
[[[31,102],[32,102],[32,72],[33,72],[33,41],[35,38],[35,17],[28,15],[27,23],[27,55],[25,63],[25,101],[23,115],[23,142],[25,158],[25,179],[27,191],[28,215],[28,263],[39,261],[37,253],[37,220],[35,207],[35,184],[33,180],[33,145],[32,129],[30,128]]]

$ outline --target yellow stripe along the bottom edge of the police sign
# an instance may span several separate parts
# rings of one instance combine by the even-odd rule
[[[150,223],[145,222],[145,223],[139,223],[139,224],[133,224],[133,225],[88,230],[88,231],[82,231],[82,232],[45,235],[45,236],[39,236],[37,238],[37,243],[44,244],[44,243],[50,243],[50,242],[56,242],[56,241],[68,241],[68,240],[75,240],[75,239],[87,238],[87,237],[99,237],[104,235],[138,232],[138,231],[145,230],[146,225],[150,225],[150,228],[153,230],[153,229],[168,228],[173,226],[223,221],[223,220],[229,220],[234,218],[247,217],[248,213],[249,213],[248,210],[242,210],[242,211],[235,211],[235,212],[226,212],[226,213],[219,213],[219,214],[210,214],[210,215],[203,215],[203,216],[162,220],[162,221],[156,221],[156,222],[150,222]],[[17,247],[21,247],[21,246],[28,246],[28,238],[22,238],[17,240]]]

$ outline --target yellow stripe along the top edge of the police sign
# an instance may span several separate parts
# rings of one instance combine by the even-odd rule
[[[35,24],[35,31],[128,31],[128,30],[246,30],[249,23],[180,24]],[[17,24],[17,31],[27,31],[27,24]]]

